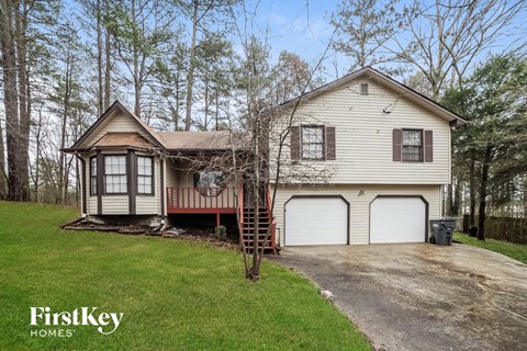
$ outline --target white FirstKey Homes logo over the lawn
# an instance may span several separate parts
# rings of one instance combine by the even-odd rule
[[[80,307],[74,310],[52,313],[49,307],[30,307],[31,337],[71,337],[71,327],[96,327],[102,335],[111,335],[117,330],[124,313],[100,313],[99,307]]]

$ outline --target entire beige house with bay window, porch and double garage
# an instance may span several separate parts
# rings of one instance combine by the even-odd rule
[[[427,220],[440,217],[441,186],[450,183],[450,129],[464,124],[460,116],[369,67],[272,111],[269,165],[272,173],[280,160],[282,171],[271,184],[272,213],[271,194],[264,196],[268,248],[427,240]],[[287,135],[280,157],[277,128]],[[247,140],[154,131],[115,102],[64,151],[80,163],[83,217],[166,224],[214,215],[220,226],[237,215],[250,248],[244,177],[227,179],[211,163],[244,152]]]

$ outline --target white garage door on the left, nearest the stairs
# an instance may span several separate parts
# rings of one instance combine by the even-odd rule
[[[293,197],[285,204],[285,245],[346,245],[348,205],[341,197]]]

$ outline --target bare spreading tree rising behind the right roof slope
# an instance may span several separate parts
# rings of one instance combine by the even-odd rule
[[[462,83],[480,54],[504,35],[511,41],[519,34],[511,23],[526,10],[522,1],[416,1],[399,15],[400,30],[391,39],[378,42],[421,72],[429,83],[429,97],[437,100],[442,89]]]

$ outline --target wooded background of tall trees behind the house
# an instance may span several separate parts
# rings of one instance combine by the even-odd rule
[[[247,101],[270,106],[374,65],[471,122],[452,135],[447,216],[469,213],[482,238],[485,215],[527,216],[526,33],[513,25],[525,2],[344,0],[326,16],[341,59],[322,65],[294,47],[273,57],[256,11],[242,0],[0,0],[0,199],[75,203],[79,171],[60,148],[115,99],[158,129],[239,129]]]

